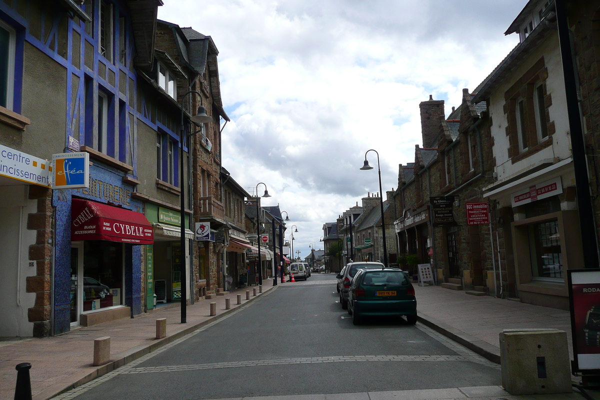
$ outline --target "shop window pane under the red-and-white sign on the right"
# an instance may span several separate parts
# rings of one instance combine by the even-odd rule
[[[559,222],[546,221],[527,227],[531,257],[532,278],[544,280],[565,279],[560,248]]]

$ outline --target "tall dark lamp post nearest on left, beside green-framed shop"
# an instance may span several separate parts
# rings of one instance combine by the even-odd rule
[[[185,185],[184,185],[184,143],[185,143],[185,128],[184,128],[184,100],[185,97],[191,93],[195,93],[200,98],[200,107],[196,115],[192,116],[191,122],[194,124],[205,124],[211,122],[212,118],[206,115],[206,109],[202,105],[202,95],[197,91],[188,91],[181,97],[181,126],[179,131],[179,145],[181,145],[181,154],[179,155],[179,193],[180,213],[181,213],[181,246],[179,255],[179,276],[181,277],[181,323],[187,323],[187,254],[185,253]],[[188,153],[191,154],[191,146],[188,146]],[[191,157],[188,157],[188,163],[190,163]],[[189,177],[188,177],[189,178]]]

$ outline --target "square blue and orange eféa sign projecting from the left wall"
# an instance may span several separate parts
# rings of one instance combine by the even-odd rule
[[[52,155],[53,189],[89,188],[89,154],[63,153]]]

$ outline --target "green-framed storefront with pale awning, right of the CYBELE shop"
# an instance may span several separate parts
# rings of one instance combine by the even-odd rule
[[[152,223],[154,231],[154,244],[146,246],[145,275],[146,309],[152,309],[181,300],[181,213],[146,203],[146,218]],[[186,226],[189,226],[189,216],[186,215],[185,219]],[[188,254],[194,233],[185,229],[185,239],[185,254]],[[186,273],[190,276],[189,265]],[[187,281],[192,282],[190,279]]]

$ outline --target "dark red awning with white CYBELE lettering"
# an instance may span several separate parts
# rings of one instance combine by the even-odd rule
[[[71,240],[154,243],[152,225],[140,212],[89,200],[73,199],[71,203]]]

